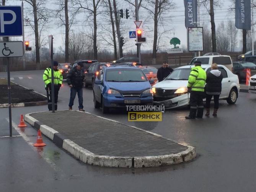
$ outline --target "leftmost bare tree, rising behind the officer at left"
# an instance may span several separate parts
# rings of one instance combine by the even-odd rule
[[[43,0],[24,0],[33,8],[33,16],[34,20],[26,18],[25,21],[28,23],[34,31],[35,34],[35,46],[36,46],[36,69],[40,69],[40,43],[39,37],[41,37],[42,31],[44,30],[44,26],[48,23],[49,11],[44,6]],[[41,25],[41,29],[39,28]]]

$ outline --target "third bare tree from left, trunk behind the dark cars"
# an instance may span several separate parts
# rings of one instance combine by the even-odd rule
[[[93,51],[94,51],[94,59],[98,59],[98,48],[97,48],[97,15],[99,14],[97,12],[98,8],[100,7],[101,0],[86,0],[86,5],[83,6],[81,3],[82,0],[77,0],[75,2],[75,5],[78,5],[78,9],[84,9],[90,12],[89,16],[93,16]],[[89,6],[89,2],[92,3],[91,6]],[[93,8],[90,8],[93,7]]]

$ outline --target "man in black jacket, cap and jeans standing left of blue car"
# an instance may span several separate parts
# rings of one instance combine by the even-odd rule
[[[79,111],[83,110],[83,80],[85,78],[84,72],[82,70],[83,63],[78,62],[75,67],[69,70],[67,75],[68,86],[70,87],[70,99],[68,104],[68,110],[72,110],[74,104],[74,99],[77,94]]]

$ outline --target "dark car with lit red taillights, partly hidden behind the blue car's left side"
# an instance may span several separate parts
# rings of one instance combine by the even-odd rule
[[[93,85],[96,76],[99,74],[99,70],[102,69],[103,66],[110,66],[110,63],[98,63],[95,62],[91,64],[91,66],[85,70],[85,80],[84,80],[84,86],[88,87],[89,85]]]

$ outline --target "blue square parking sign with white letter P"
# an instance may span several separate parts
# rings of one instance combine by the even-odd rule
[[[21,6],[0,6],[0,37],[22,36]]]

